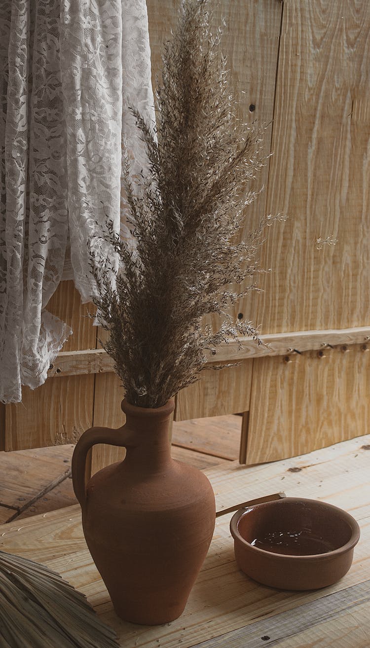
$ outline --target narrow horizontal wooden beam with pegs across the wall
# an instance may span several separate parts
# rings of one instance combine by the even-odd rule
[[[303,330],[275,333],[261,336],[262,344],[251,338],[240,338],[219,345],[216,354],[205,352],[207,364],[239,362],[262,356],[283,356],[289,353],[322,349],[328,345],[360,344],[370,341],[370,327],[355,329]],[[52,363],[48,376],[72,376],[87,373],[108,373],[114,371],[113,360],[104,349],[83,351],[62,351]]]

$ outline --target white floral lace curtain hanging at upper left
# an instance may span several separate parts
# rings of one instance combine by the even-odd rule
[[[45,309],[62,277],[89,301],[89,237],[105,214],[128,235],[122,143],[145,168],[128,104],[153,121],[154,100],[145,0],[0,5],[0,400],[19,402],[72,332]]]

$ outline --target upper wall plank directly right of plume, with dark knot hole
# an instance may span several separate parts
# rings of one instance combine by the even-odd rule
[[[238,117],[243,122],[257,121],[264,126],[264,152],[268,156],[272,152],[273,105],[282,6],[270,0],[244,3],[222,0],[219,5],[213,3],[213,8],[216,24],[221,24],[223,18],[226,23],[223,28],[222,50],[228,58],[231,86],[237,93]],[[250,189],[258,192],[261,187],[268,185],[269,165],[270,158]],[[249,234],[256,229],[266,213],[267,192],[262,191],[257,200],[246,209],[244,225],[239,233],[240,240],[248,240]],[[266,267],[270,268],[271,264],[270,259]],[[235,288],[239,292],[240,287]],[[258,305],[259,294],[252,292],[230,307],[229,312],[235,319],[241,313],[244,319],[259,323]],[[213,323],[217,323],[216,317],[213,318]]]

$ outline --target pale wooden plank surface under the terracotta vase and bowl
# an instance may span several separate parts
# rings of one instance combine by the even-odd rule
[[[205,470],[216,511],[283,488],[288,496],[329,502],[357,520],[360,542],[349,572],[319,590],[294,592],[258,584],[238,570],[229,522],[216,520],[211,547],[183,614],[142,626],[119,619],[87,550],[80,506],[0,526],[0,548],[60,573],[86,594],[122,648],[369,648],[370,435],[310,454]],[[188,451],[189,452],[189,451]]]

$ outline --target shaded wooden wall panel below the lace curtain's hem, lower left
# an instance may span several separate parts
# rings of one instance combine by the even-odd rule
[[[96,327],[87,318],[73,281],[63,281],[49,301],[52,314],[67,322],[73,335],[64,351],[95,349]],[[48,378],[40,388],[22,389],[22,402],[5,406],[5,449],[40,448],[75,440],[93,421],[94,376]]]

